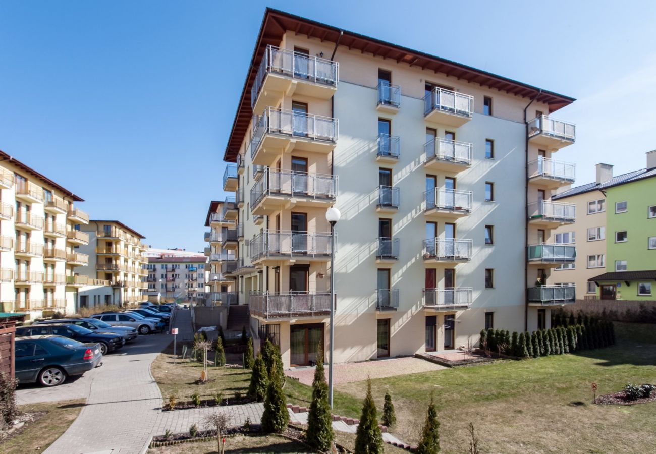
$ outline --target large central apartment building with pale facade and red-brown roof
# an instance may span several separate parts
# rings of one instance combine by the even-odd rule
[[[224,154],[235,195],[206,238],[213,290],[249,304],[286,367],[329,345],[333,272],[337,362],[537,329],[573,301],[545,285],[575,256],[552,246],[575,209],[551,197],[573,181],[552,155],[575,126],[551,116],[573,98],[272,9],[249,68]]]

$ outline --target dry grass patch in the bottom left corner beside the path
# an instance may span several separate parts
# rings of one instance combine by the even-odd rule
[[[17,436],[0,443],[0,452],[28,454],[45,451],[75,421],[84,402],[84,400],[64,400],[20,405],[18,409],[26,413],[42,411],[46,413],[33,423],[28,423]]]

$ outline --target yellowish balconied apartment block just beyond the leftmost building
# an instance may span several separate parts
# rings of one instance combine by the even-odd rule
[[[81,228],[89,235],[89,243],[81,245],[81,253],[89,255],[86,266],[79,268],[79,274],[87,279],[106,281],[112,287],[112,297],[102,292],[102,302],[95,304],[138,304],[145,301],[147,270],[143,268],[147,259],[142,254],[148,248],[141,243],[145,237],[117,220],[90,220]],[[91,304],[82,299],[80,304]]]

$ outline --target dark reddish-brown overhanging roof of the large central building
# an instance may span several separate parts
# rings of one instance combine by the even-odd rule
[[[264,55],[267,45],[279,45],[282,37],[287,30],[293,30],[297,34],[307,35],[321,39],[321,42],[339,43],[349,50],[355,49],[362,53],[373,54],[373,56],[382,56],[390,58],[396,62],[404,62],[410,66],[432,70],[435,73],[453,75],[458,79],[464,79],[468,82],[478,83],[490,89],[498,89],[509,94],[516,94],[526,98],[536,97],[538,102],[544,102],[549,106],[549,112],[554,112],[575,101],[574,98],[564,96],[563,94],[553,93],[527,85],[522,82],[508,79],[501,75],[493,74],[487,71],[472,68],[461,63],[453,62],[445,58],[440,58],[425,52],[415,51],[402,47],[400,45],[381,41],[354,31],[342,30],[341,28],[322,24],[315,20],[310,20],[281,10],[267,8],[264,12],[260,32],[251,57],[251,64],[248,69],[246,80],[237,113],[232,123],[232,131],[228,138],[224,160],[235,161],[237,152],[241,146],[244,134],[246,133],[253,112],[251,110],[251,87],[255,76],[260,67],[260,61]]]

